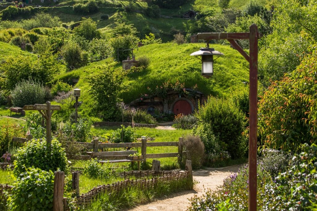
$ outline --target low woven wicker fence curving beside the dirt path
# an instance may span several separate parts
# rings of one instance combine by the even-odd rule
[[[103,184],[91,189],[88,193],[82,194],[75,198],[74,203],[77,205],[82,205],[86,203],[90,203],[93,201],[99,194],[101,193],[112,193],[119,192],[120,190],[126,189],[128,187],[136,187],[139,186],[142,189],[154,188],[155,185],[159,182],[170,182],[170,181],[178,181],[180,179],[189,178],[191,173],[189,171],[127,171],[120,173],[121,177],[127,176],[135,176],[135,177],[143,177],[143,176],[159,176],[150,178],[142,178],[142,179],[126,179],[124,181],[115,182],[112,184]],[[164,176],[163,176],[164,175]]]

